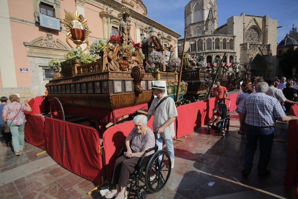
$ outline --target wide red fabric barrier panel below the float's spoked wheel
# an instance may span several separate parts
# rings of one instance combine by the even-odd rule
[[[46,146],[49,155],[75,174],[101,184],[100,139],[94,128],[46,118]]]

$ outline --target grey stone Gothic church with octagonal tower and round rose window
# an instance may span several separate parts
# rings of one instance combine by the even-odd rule
[[[192,0],[184,9],[187,31],[185,54],[197,57],[205,53],[204,61],[211,65],[215,57],[231,66],[240,64],[249,67],[252,76],[273,77],[277,72],[277,20],[269,16],[253,16],[241,13],[232,16],[218,27],[216,0]],[[182,56],[183,39],[178,40],[178,55]],[[235,60],[237,58],[237,60]],[[232,68],[230,68],[232,70]]]

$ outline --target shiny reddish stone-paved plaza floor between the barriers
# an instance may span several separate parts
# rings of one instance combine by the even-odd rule
[[[275,138],[286,140],[287,124],[277,123]],[[283,188],[286,168],[286,143],[274,141],[269,169],[271,175],[257,175],[259,152],[248,178],[242,178],[245,136],[238,135],[238,114],[231,113],[229,134],[207,133],[201,127],[174,141],[175,167],[161,192],[147,198],[290,198]],[[26,143],[23,154],[15,156],[0,139],[1,198],[102,198],[99,192],[86,193],[96,184],[67,171],[47,153]],[[260,190],[256,190],[260,189]]]

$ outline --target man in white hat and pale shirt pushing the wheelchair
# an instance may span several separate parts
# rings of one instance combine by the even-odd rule
[[[153,83],[152,92],[157,97],[152,101],[147,118],[149,121],[151,116],[154,115],[153,130],[158,132],[156,140],[158,150],[162,150],[162,142],[164,140],[171,158],[171,167],[173,168],[175,160],[172,140],[175,136],[173,121],[178,116],[178,113],[174,100],[168,96],[164,96],[167,87],[163,83],[164,81],[154,81]]]

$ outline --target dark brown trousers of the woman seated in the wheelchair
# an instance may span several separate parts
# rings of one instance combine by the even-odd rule
[[[138,161],[139,157],[126,158],[124,155],[120,156],[115,162],[111,183],[122,187],[127,186],[129,176],[134,172]]]

